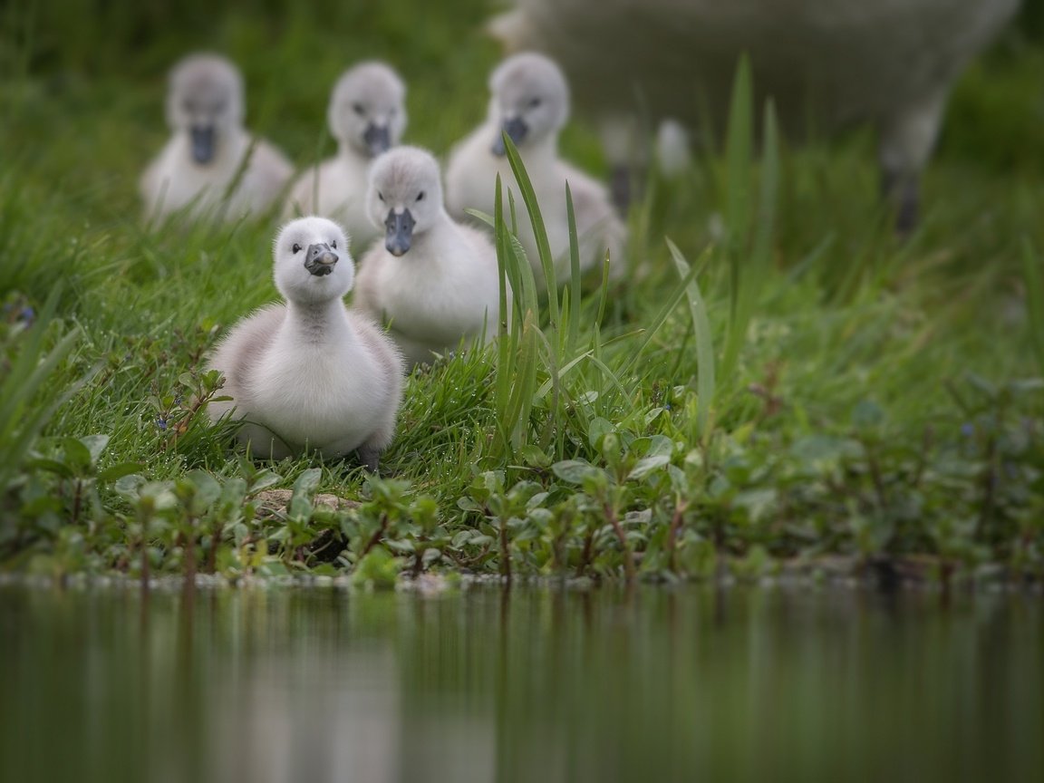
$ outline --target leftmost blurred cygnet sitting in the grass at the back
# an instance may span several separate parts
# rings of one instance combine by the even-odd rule
[[[223,206],[223,217],[234,220],[275,201],[293,168],[242,121],[243,80],[232,63],[192,54],[174,66],[167,91],[173,136],[141,179],[146,218],[183,209],[201,217]]]

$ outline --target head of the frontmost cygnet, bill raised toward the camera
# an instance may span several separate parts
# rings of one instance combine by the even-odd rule
[[[301,217],[276,236],[276,287],[288,302],[317,305],[340,299],[355,283],[345,231],[325,217]]]

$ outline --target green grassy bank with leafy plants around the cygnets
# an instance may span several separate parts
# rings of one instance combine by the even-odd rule
[[[496,346],[410,377],[372,480],[351,460],[248,462],[208,424],[205,354],[276,296],[276,223],[147,233],[137,176],[165,138],[165,69],[199,47],[240,63],[251,126],[301,166],[333,151],[329,89],[366,56],[406,78],[407,141],[444,153],[484,114],[491,11],[183,5],[2,13],[6,567],[380,584],[403,569],[757,576],[840,556],[1040,577],[1044,51],[1029,17],[957,86],[906,242],[877,200],[871,135],[789,146],[743,68],[723,149],[654,174],[634,207],[624,283],[582,281],[574,263],[538,295],[511,216],[539,205],[503,183],[512,315]],[[604,173],[582,118],[562,147]],[[294,502],[262,517],[271,487]],[[316,491],[361,505],[329,511]]]

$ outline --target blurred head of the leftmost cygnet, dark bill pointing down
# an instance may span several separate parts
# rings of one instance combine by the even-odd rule
[[[192,138],[192,159],[210,163],[221,138],[242,125],[243,79],[217,54],[190,54],[170,72],[167,123]]]

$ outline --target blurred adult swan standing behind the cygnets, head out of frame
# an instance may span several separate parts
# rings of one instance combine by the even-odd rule
[[[1019,0],[514,0],[493,21],[507,51],[554,57],[598,119],[614,163],[637,120],[720,124],[746,52],[759,105],[791,136],[870,121],[885,185],[916,201],[950,89]],[[808,126],[809,120],[813,125]],[[912,188],[912,192],[902,193]],[[916,211],[916,210],[915,210]]]

